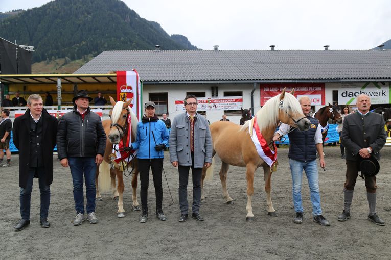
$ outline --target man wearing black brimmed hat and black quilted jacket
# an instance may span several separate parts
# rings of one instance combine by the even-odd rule
[[[63,167],[70,166],[73,179],[73,196],[76,217],[74,226],[84,221],[83,176],[87,198],[87,220],[98,223],[95,214],[95,174],[103,161],[106,148],[106,134],[101,118],[91,111],[89,102],[93,100],[85,90],[77,92],[72,99],[73,111],[62,116],[57,133],[58,157]]]

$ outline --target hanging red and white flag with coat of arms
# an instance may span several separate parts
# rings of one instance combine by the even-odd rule
[[[139,73],[135,69],[130,71],[117,71],[117,100],[126,102],[133,98],[130,103],[134,114],[139,121],[142,117],[142,83]]]

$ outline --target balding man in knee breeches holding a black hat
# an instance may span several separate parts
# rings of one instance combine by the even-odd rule
[[[369,204],[368,220],[384,226],[376,214],[376,173],[379,171],[379,151],[386,141],[384,118],[370,112],[371,99],[366,94],[357,97],[358,111],[344,117],[342,143],[346,148],[346,183],[343,187],[344,210],[339,221],[350,219],[350,206],[358,172],[365,176],[366,197]],[[370,160],[368,160],[370,159]],[[377,163],[377,164],[376,164]],[[372,165],[372,166],[371,166]]]

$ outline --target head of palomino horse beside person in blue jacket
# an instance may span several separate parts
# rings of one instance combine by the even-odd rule
[[[121,139],[127,138],[126,133],[129,127],[128,116],[129,114],[134,115],[129,108],[132,100],[133,98],[129,99],[126,103],[122,101],[118,101],[116,103],[116,101],[114,101],[114,99],[110,96],[110,102],[113,106],[113,110],[111,114],[111,126],[108,138],[112,144],[118,144]]]

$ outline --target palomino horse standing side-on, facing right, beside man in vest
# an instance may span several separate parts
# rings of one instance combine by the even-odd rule
[[[226,185],[227,171],[229,165],[246,167],[247,179],[247,215],[248,222],[254,221],[252,214],[251,199],[254,193],[254,172],[257,168],[263,167],[265,179],[265,191],[267,194],[268,214],[277,216],[273,208],[270,197],[270,166],[258,155],[257,148],[252,141],[253,125],[256,120],[257,129],[261,132],[264,139],[261,142],[266,146],[272,143],[272,137],[279,121],[291,126],[298,127],[307,131],[310,127],[310,121],[303,114],[300,103],[285,89],[277,96],[269,99],[254,118],[247,121],[243,126],[227,122],[217,121],[210,126],[212,135],[213,155],[217,153],[221,159],[220,180],[223,188],[223,196],[227,204],[232,204],[232,198],[229,197]],[[235,136],[235,138],[232,138]],[[256,135],[257,136],[257,135]],[[277,152],[277,151],[276,151]],[[212,168],[212,167],[210,167]],[[211,169],[213,171],[213,169]],[[208,172],[209,173],[209,172]],[[202,171],[201,187],[203,191],[203,180],[206,176],[206,169]],[[204,202],[202,192],[201,199]]]

